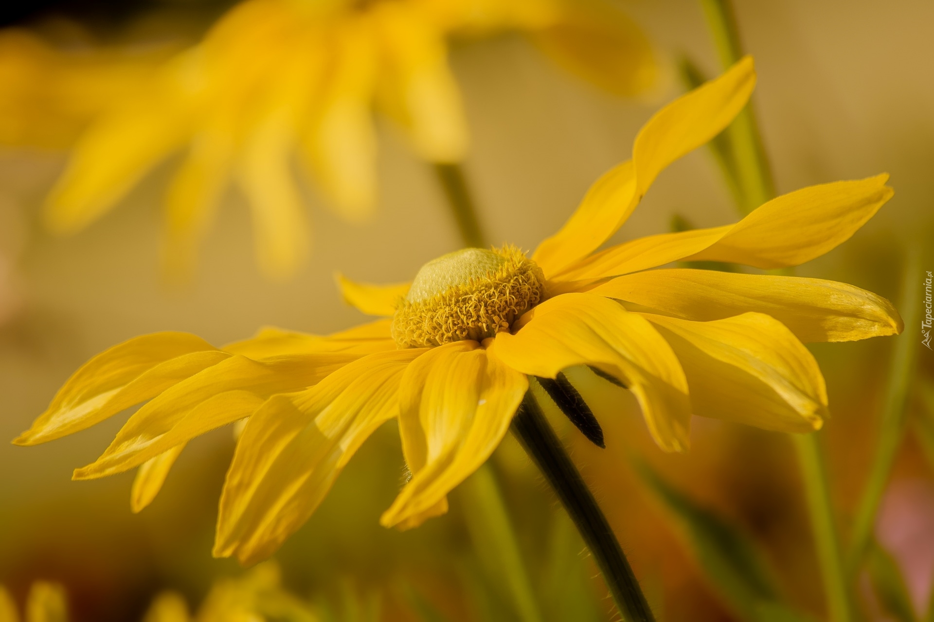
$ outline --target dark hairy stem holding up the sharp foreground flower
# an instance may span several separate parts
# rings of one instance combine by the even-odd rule
[[[512,430],[558,494],[561,505],[564,505],[583,536],[623,619],[627,622],[654,621],[652,610],[645,601],[635,574],[632,574],[616,534],[603,516],[597,500],[587,489],[584,478],[561,446],[558,435],[545,419],[545,413],[535,401],[531,390],[526,393],[517,410]]]

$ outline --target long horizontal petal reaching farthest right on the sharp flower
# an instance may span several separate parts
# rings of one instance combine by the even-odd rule
[[[618,298],[663,315],[709,322],[757,311],[798,339],[853,341],[901,332],[888,300],[846,283],[716,270],[649,270],[616,277],[590,294]]]

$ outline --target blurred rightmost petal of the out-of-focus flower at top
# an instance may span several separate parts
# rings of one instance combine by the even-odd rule
[[[610,7],[587,8],[565,11],[531,39],[555,62],[603,90],[631,96],[650,87],[655,59],[639,26]]]

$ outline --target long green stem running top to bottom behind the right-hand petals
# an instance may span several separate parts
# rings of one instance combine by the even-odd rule
[[[724,68],[743,58],[743,48],[729,0],[701,0],[704,15]],[[731,177],[737,205],[743,214],[775,196],[771,171],[752,104],[747,104],[725,131],[725,153],[720,154]],[[786,271],[788,273],[790,270]],[[849,622],[854,607],[848,574],[843,569],[841,540],[834,519],[820,436],[793,435],[808,517],[828,614],[832,622]]]

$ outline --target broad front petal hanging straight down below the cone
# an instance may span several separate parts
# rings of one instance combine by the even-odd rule
[[[529,388],[493,348],[475,341],[434,348],[410,367],[399,425],[412,478],[379,519],[385,527],[415,527],[442,511],[447,493],[500,444]]]

